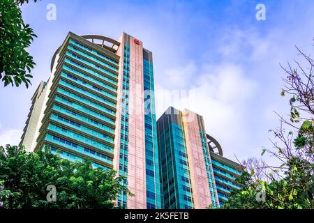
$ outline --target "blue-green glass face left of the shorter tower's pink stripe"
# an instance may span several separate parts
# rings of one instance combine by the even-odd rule
[[[191,209],[193,194],[182,123],[162,116],[157,125],[163,208]]]

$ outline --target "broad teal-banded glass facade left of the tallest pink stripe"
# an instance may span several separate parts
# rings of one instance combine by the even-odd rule
[[[112,169],[118,62],[83,38],[63,43],[36,149],[47,145],[68,160]]]

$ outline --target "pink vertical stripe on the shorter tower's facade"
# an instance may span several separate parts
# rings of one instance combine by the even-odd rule
[[[184,109],[182,121],[186,137],[194,206],[196,209],[204,209],[211,204],[211,197],[197,116],[194,112]]]

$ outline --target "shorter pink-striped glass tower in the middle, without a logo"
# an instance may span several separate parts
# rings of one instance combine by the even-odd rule
[[[202,116],[169,107],[158,118],[163,208],[219,207]]]

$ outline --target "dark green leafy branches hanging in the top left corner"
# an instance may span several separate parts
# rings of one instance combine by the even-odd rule
[[[35,63],[27,48],[37,36],[29,24],[24,24],[19,8],[24,2],[29,1],[0,1],[0,79],[4,86],[20,86],[23,82],[28,87],[31,84],[30,72]]]

